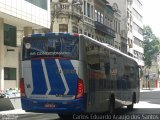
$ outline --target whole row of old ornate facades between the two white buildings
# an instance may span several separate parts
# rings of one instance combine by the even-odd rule
[[[121,11],[115,3],[52,0],[51,17],[52,32],[82,33],[127,53],[127,24],[123,21],[121,25]]]

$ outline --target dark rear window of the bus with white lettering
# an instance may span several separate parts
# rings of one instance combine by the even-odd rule
[[[54,37],[27,37],[23,42],[23,60],[60,57],[79,59],[78,36],[54,36]]]

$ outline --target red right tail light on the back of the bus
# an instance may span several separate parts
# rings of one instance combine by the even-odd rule
[[[77,83],[77,95],[76,95],[76,98],[82,97],[83,94],[84,94],[84,84],[83,84],[83,80],[78,79],[78,83]]]

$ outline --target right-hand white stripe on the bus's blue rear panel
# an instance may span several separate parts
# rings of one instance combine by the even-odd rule
[[[67,81],[66,81],[66,79],[65,79],[65,77],[64,77],[63,70],[62,70],[61,65],[60,65],[60,63],[59,63],[59,60],[56,59],[55,61],[56,61],[57,67],[58,67],[59,70],[61,71],[60,75],[61,75],[61,78],[62,78],[64,87],[65,87],[65,89],[66,89],[66,91],[64,92],[64,94],[67,94],[67,93],[69,92],[69,88],[68,88],[68,85],[67,85]]]

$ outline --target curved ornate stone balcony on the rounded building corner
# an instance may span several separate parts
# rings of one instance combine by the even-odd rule
[[[52,14],[60,15],[67,14],[79,17],[82,19],[82,8],[80,5],[74,5],[71,3],[52,3],[51,5]]]

